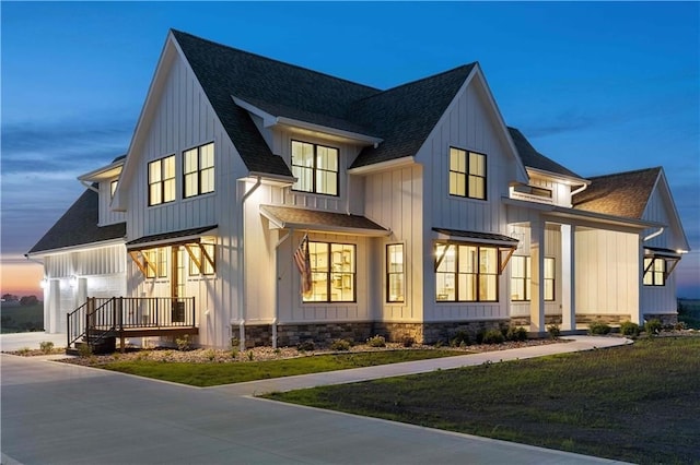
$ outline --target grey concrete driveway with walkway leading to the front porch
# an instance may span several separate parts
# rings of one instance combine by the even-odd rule
[[[2,464],[614,463],[249,394],[625,343],[575,337],[567,344],[207,389],[2,355]]]

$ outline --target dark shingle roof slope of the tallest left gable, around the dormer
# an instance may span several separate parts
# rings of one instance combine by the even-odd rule
[[[291,176],[283,159],[271,153],[247,111],[234,105],[232,96],[345,119],[352,102],[378,92],[179,31],[172,33],[250,171]]]

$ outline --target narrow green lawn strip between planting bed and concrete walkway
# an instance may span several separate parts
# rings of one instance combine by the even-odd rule
[[[457,355],[465,355],[465,353],[433,349],[387,350],[230,363],[188,363],[133,360],[113,361],[102,366],[102,368],[122,373],[138,374],[140,377],[203,388]]]

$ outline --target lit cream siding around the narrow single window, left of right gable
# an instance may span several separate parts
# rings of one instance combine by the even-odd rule
[[[375,239],[370,262],[375,271],[372,308],[386,322],[422,320],[423,301],[423,169],[420,165],[365,177],[365,215],[389,229],[387,238]],[[405,301],[387,302],[386,246],[404,245]],[[381,287],[380,287],[381,283]]]

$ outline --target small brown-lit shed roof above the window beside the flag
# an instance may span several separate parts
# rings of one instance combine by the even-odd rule
[[[388,236],[392,233],[361,215],[276,205],[260,205],[260,214],[279,229],[377,237]]]

